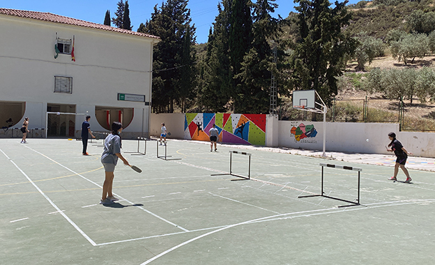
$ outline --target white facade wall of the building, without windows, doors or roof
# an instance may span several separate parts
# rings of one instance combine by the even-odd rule
[[[133,120],[123,132],[148,132],[150,107],[117,100],[117,94],[146,95],[151,101],[155,39],[8,15],[0,15],[0,36],[0,100],[25,102],[29,128],[45,128],[47,103],[54,103],[75,105],[76,113],[91,115],[92,130],[105,130],[96,121],[96,106],[133,108]],[[56,36],[75,36],[76,61],[70,54],[54,59]],[[73,93],[54,93],[56,75],[73,77]],[[82,121],[84,116],[76,117],[76,131]]]

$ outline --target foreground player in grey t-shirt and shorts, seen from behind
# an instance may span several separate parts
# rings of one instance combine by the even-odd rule
[[[105,168],[105,182],[102,184],[102,197],[100,204],[113,204],[118,198],[112,194],[114,170],[118,158],[123,160],[124,165],[130,166],[128,161],[121,155],[121,136],[122,124],[114,121],[112,123],[112,133],[105,139],[105,149],[102,151],[101,162]]]

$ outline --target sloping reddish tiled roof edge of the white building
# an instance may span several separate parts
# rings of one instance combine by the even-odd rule
[[[91,28],[91,29],[100,29],[103,31],[114,31],[114,32],[129,34],[129,35],[160,39],[157,36],[153,36],[153,35],[149,35],[149,34],[145,34],[145,33],[139,33],[136,31],[128,31],[126,29],[119,29],[119,28],[110,27],[110,26],[103,25],[103,24],[87,22],[84,20],[77,20],[77,19],[71,18],[71,17],[63,17],[61,15],[56,15],[56,14],[47,13],[47,12],[36,12],[36,11],[0,8],[0,14],[12,15],[14,17],[24,17],[24,18],[29,18],[32,20],[42,20],[42,21],[47,21],[47,22],[59,23],[59,24],[68,24],[68,25],[86,27],[86,28]]]

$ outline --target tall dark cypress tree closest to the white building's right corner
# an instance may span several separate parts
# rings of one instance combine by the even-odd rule
[[[153,111],[174,112],[174,104],[185,107],[194,79],[194,33],[190,26],[187,0],[168,0],[154,7],[151,20],[141,27],[144,33],[159,36],[153,52]],[[193,67],[193,68],[192,68]],[[193,76],[193,77],[192,77]]]

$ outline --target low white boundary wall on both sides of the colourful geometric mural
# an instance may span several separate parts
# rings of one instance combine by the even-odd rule
[[[151,114],[151,135],[160,135],[160,123],[165,122],[171,132],[169,138],[184,139],[184,114]],[[293,127],[313,125],[315,137],[298,141],[291,133]],[[322,150],[323,122],[278,121],[277,116],[267,116],[266,146],[289,147],[293,149]],[[326,152],[389,154],[388,132],[395,132],[397,139],[413,156],[435,158],[435,133],[399,132],[396,123],[326,123]],[[367,141],[368,139],[368,141]]]

